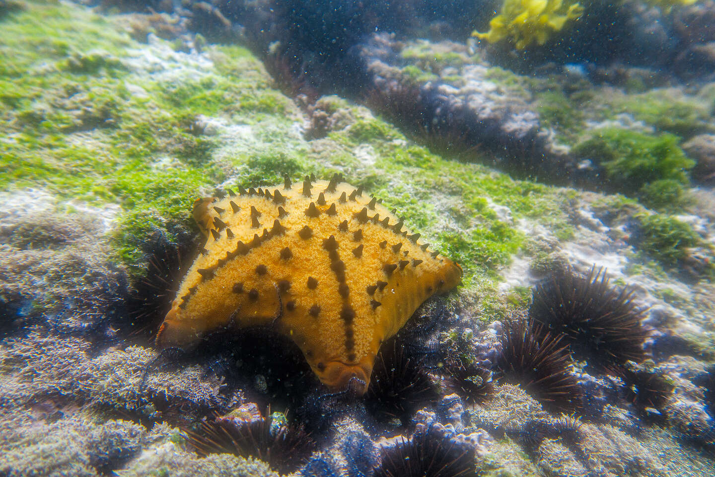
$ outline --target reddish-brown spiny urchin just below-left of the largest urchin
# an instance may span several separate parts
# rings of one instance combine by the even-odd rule
[[[501,335],[506,380],[516,383],[551,410],[581,407],[581,387],[571,373],[571,353],[561,345],[563,335],[544,332],[541,325],[521,319]]]

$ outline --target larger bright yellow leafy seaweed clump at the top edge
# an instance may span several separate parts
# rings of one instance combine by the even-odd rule
[[[505,0],[501,13],[489,21],[489,31],[473,31],[472,36],[489,43],[508,39],[517,49],[525,49],[533,43],[545,44],[567,21],[582,14],[583,6],[564,4],[563,0]]]

